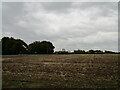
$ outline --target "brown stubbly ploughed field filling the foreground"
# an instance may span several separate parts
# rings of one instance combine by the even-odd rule
[[[3,56],[3,88],[118,88],[117,54]]]

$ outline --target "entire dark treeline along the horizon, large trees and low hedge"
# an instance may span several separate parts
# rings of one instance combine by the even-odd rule
[[[14,39],[13,37],[3,37],[0,41],[2,44],[3,55],[15,54],[116,54],[113,51],[101,50],[74,50],[73,52],[62,49],[54,52],[54,46],[50,41],[35,41],[27,45],[21,39]]]

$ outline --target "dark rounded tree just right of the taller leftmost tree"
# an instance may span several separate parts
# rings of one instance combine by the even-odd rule
[[[54,48],[53,44],[49,41],[35,41],[29,44],[28,52],[31,54],[52,54]]]

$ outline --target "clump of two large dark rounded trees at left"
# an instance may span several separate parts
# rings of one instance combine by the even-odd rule
[[[54,46],[49,41],[35,41],[27,45],[21,39],[14,39],[13,37],[3,37],[2,42],[2,54],[52,54],[54,52]]]

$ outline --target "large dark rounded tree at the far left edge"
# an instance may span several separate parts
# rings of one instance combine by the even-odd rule
[[[14,39],[13,37],[3,37],[2,40],[2,54],[25,54],[27,52],[27,44],[20,39]]]

